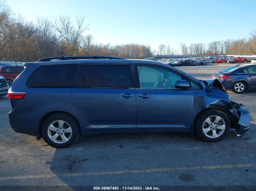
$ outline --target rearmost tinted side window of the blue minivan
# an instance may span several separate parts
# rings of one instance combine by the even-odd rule
[[[39,66],[27,79],[28,87],[72,87],[76,64]]]

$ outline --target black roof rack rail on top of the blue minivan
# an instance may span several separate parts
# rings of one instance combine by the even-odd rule
[[[125,59],[117,56],[61,56],[61,57],[49,57],[42,58],[37,62],[47,62],[51,60],[73,60],[73,59]]]

